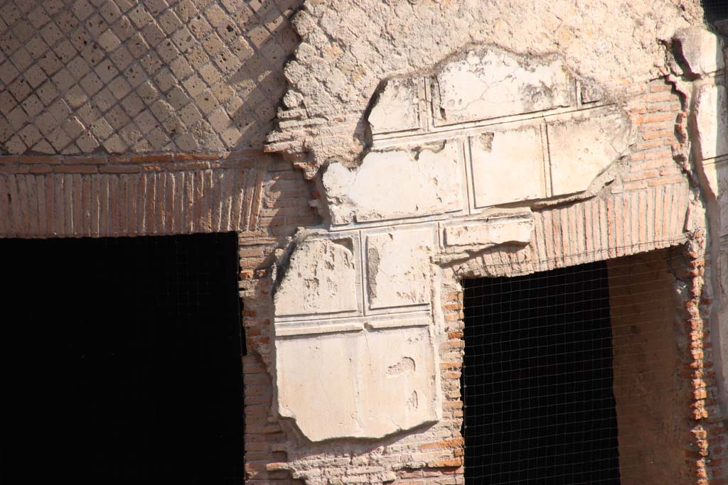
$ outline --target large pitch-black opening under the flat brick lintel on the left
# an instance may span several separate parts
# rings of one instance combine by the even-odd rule
[[[0,240],[2,483],[242,483],[234,233]]]

